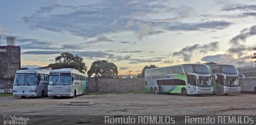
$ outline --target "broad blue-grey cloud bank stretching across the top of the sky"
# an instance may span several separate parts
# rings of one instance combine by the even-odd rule
[[[86,5],[42,6],[22,20],[31,29],[45,29],[60,33],[69,33],[81,37],[100,36],[95,41],[113,41],[105,34],[133,31],[139,39],[147,35],[156,35],[166,31],[196,31],[223,29],[231,25],[228,21],[204,21],[196,23],[181,22],[194,16],[194,8],[174,6],[168,0],[130,1],[106,0],[88,2]],[[172,14],[172,18],[152,19],[152,15]],[[156,16],[155,16],[156,17]],[[128,42],[122,42],[128,43]]]

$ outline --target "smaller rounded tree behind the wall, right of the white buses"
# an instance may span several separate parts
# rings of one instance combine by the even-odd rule
[[[88,76],[117,76],[118,70],[114,63],[106,60],[92,62],[90,70],[87,72]]]

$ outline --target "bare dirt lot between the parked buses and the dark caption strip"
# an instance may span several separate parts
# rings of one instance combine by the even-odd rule
[[[90,102],[70,105],[70,102]],[[105,94],[76,98],[0,97],[2,115],[256,115],[256,94]]]

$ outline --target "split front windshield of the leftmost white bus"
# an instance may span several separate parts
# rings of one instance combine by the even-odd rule
[[[36,85],[36,74],[15,74],[14,85]]]

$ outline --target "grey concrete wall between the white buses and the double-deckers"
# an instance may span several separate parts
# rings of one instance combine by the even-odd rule
[[[98,91],[144,91],[144,78],[98,78]]]

